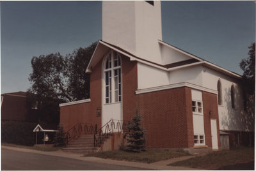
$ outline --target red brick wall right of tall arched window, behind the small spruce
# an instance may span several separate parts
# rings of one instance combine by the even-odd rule
[[[147,146],[193,147],[191,89],[181,87],[136,95],[137,63],[123,57],[122,71],[124,120],[131,121],[134,109],[140,110],[142,125],[147,132]]]

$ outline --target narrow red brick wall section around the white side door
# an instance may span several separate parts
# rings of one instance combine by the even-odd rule
[[[218,135],[218,147],[220,148],[220,124],[218,114],[218,101],[217,95],[202,91],[203,108],[204,108],[204,133],[205,133],[205,145],[212,147],[211,137],[211,119],[216,119],[217,135]],[[209,111],[211,110],[211,115]]]

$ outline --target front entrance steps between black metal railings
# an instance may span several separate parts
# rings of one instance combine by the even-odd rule
[[[94,147],[94,135],[81,135],[79,138],[72,140],[68,143],[67,147],[62,150],[65,152],[73,153],[92,153],[99,151],[99,148]]]

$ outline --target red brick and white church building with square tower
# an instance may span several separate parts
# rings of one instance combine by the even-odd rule
[[[147,147],[219,150],[246,143],[241,75],[162,40],[161,1],[103,1],[102,40],[88,64],[90,99],[60,104],[65,131],[77,123],[131,121],[138,109]]]

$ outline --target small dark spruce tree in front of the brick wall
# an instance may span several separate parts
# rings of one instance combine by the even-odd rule
[[[146,151],[145,130],[141,128],[141,115],[138,109],[135,110],[136,114],[132,117],[132,123],[128,123],[127,129],[127,151],[130,152],[143,152]]]

